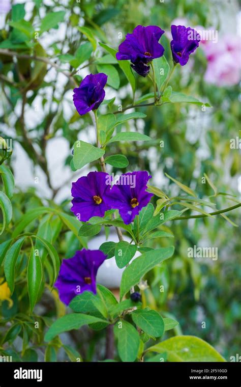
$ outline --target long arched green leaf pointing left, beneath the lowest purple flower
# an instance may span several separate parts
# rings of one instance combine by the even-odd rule
[[[50,341],[55,336],[60,335],[63,332],[66,332],[72,329],[79,329],[83,325],[92,324],[95,322],[107,322],[107,321],[94,316],[88,316],[81,313],[68,314],[66,316],[63,316],[57,319],[50,326],[49,330],[47,331],[44,337],[44,340]]]

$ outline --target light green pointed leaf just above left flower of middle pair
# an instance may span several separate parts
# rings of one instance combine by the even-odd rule
[[[89,162],[98,160],[105,154],[103,149],[94,147],[84,141],[76,141],[74,143],[74,167],[81,169]]]

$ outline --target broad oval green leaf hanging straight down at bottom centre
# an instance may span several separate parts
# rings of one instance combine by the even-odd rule
[[[118,340],[118,354],[123,362],[134,362],[137,357],[140,338],[137,330],[126,321],[114,325],[114,334]]]

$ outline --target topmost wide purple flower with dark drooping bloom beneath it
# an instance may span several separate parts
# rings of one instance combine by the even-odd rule
[[[146,76],[149,67],[145,66],[155,58],[163,56],[164,48],[158,43],[164,31],[156,25],[137,25],[132,34],[127,34],[126,40],[119,45],[116,53],[118,61],[131,60],[133,69]]]

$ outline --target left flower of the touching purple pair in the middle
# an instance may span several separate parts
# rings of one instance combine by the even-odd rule
[[[107,182],[107,173],[89,172],[87,176],[80,177],[72,183],[73,196],[71,211],[81,222],[87,222],[92,216],[103,217],[105,211],[110,209],[106,195],[110,191]]]

